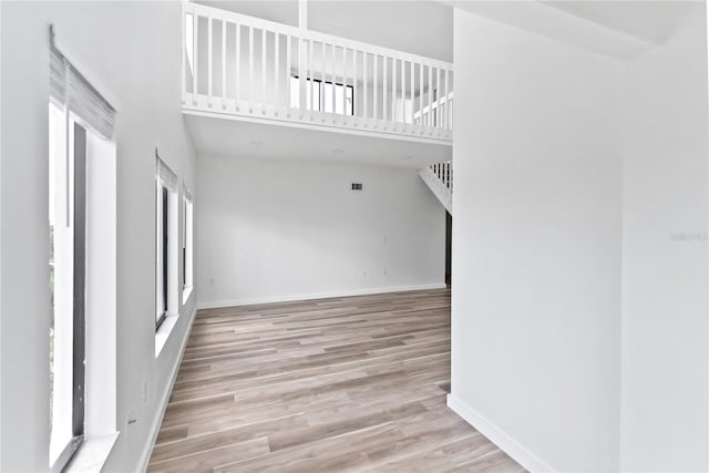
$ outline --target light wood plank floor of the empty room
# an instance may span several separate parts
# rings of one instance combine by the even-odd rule
[[[148,471],[524,471],[445,405],[450,300],[201,310]]]

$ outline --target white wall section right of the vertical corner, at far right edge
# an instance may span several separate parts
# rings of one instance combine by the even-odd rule
[[[707,37],[703,2],[626,65],[623,449],[626,471],[706,471]]]

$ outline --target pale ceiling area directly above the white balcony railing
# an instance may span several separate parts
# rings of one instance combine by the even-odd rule
[[[197,2],[298,25],[298,0]],[[453,10],[435,1],[310,0],[308,28],[412,54],[453,61]]]

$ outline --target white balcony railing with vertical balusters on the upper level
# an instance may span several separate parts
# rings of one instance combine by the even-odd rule
[[[450,141],[453,64],[184,3],[183,107]]]

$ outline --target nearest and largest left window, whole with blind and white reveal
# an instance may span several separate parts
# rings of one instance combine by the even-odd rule
[[[49,467],[63,471],[86,433],[115,434],[115,110],[50,38]]]

